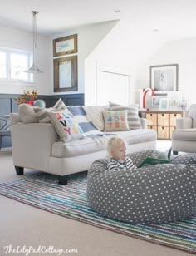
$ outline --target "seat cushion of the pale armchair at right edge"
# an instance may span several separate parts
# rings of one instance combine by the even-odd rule
[[[172,140],[196,141],[196,128],[174,130]]]

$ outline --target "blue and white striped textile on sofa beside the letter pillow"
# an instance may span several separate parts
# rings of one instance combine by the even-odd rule
[[[83,132],[86,133],[93,130],[98,130],[96,126],[94,126],[94,124],[88,119],[86,111],[82,108],[82,106],[67,106],[66,108],[76,118]]]

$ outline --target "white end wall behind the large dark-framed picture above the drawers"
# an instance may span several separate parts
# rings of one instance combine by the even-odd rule
[[[183,91],[184,100],[195,103],[196,87],[196,38],[168,42],[156,52],[140,69],[138,86],[149,87],[149,66],[179,64],[179,91]]]

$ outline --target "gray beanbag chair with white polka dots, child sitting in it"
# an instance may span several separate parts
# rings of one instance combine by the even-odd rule
[[[196,214],[196,165],[107,171],[107,161],[96,160],[88,171],[87,199],[98,213],[130,224],[166,223]]]

